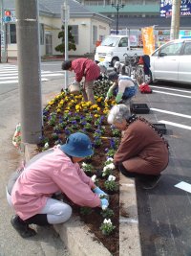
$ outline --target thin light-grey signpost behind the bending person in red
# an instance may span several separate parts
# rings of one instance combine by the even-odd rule
[[[69,58],[69,46],[68,46],[68,23],[70,19],[70,8],[68,5],[68,0],[65,0],[64,5],[61,7],[61,21],[62,24],[64,24],[64,44],[65,44],[65,49],[64,49],[64,59],[68,60]],[[68,71],[65,70],[65,89],[67,88],[69,84],[69,76],[68,76]]]

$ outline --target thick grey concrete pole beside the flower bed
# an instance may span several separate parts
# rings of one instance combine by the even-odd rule
[[[42,134],[38,0],[15,0],[15,11],[22,142],[36,144]]]

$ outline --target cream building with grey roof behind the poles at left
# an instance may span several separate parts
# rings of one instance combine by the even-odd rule
[[[54,50],[61,43],[58,33],[61,31],[61,5],[64,0],[39,0],[39,31],[40,54],[62,55]],[[70,51],[70,56],[83,56],[95,52],[96,41],[110,34],[112,19],[89,11],[77,1],[69,0],[70,20],[76,51]],[[11,11],[11,22],[7,23],[8,58],[17,57],[16,18],[14,0],[4,0],[4,9]]]

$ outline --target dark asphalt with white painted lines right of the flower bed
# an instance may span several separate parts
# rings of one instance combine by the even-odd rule
[[[143,190],[137,181],[138,219],[142,256],[191,255],[191,84],[160,82],[151,95],[141,95],[149,105],[144,117],[166,125],[164,137],[170,145],[170,159],[159,185]],[[175,185],[186,182],[183,187]]]

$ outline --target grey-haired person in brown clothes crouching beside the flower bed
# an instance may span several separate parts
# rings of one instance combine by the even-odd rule
[[[144,188],[153,188],[168,165],[168,143],[148,121],[130,115],[126,105],[113,106],[108,123],[123,131],[114,155],[119,171],[128,177],[139,177]]]

